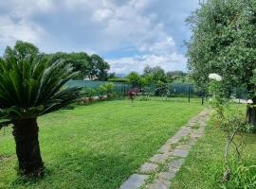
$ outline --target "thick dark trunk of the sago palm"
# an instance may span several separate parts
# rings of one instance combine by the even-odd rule
[[[15,120],[13,125],[19,172],[27,176],[43,176],[45,166],[40,153],[36,118]]]

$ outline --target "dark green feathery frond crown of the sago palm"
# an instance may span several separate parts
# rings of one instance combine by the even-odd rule
[[[78,74],[64,60],[0,59],[0,118],[33,118],[73,103],[81,89],[63,88]]]

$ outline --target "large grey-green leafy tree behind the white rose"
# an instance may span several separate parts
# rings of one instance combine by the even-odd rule
[[[246,85],[256,104],[256,88],[250,82],[256,67],[256,1],[209,0],[192,13],[188,22],[192,27],[188,63],[196,84],[206,89],[208,75],[218,73],[225,78],[227,92]],[[255,115],[255,108],[248,110],[248,117]]]

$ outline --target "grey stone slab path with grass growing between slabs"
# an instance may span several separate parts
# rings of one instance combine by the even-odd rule
[[[210,112],[206,109],[192,117],[147,163],[138,168],[137,174],[125,180],[120,189],[169,189],[170,180],[174,178],[197,138],[204,134]]]

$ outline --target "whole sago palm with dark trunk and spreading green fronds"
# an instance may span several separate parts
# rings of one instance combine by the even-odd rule
[[[0,60],[0,128],[13,125],[20,173],[44,174],[37,117],[58,111],[80,96],[80,88],[64,88],[76,76],[64,60]]]

